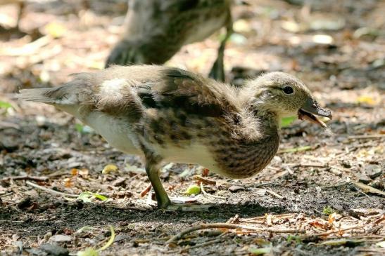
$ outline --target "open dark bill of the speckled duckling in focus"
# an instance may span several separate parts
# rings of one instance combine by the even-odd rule
[[[317,116],[324,116],[328,119],[332,119],[332,112],[329,109],[322,108],[318,102],[313,99],[309,99],[305,105],[298,110],[298,119],[317,123],[317,125],[322,126],[322,128],[327,128],[327,125],[318,119]]]

